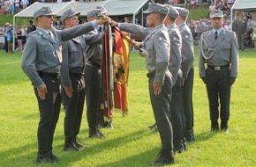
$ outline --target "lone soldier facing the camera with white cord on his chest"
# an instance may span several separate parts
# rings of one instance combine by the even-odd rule
[[[222,28],[222,18],[222,11],[214,10],[210,14],[214,29],[201,36],[199,69],[200,78],[207,86],[211,132],[219,130],[220,115],[221,130],[229,133],[230,91],[237,78],[238,46],[235,33]]]

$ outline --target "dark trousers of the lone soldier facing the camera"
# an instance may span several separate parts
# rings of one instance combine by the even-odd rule
[[[212,127],[218,126],[219,118],[219,100],[220,100],[220,118],[223,126],[226,126],[230,119],[230,69],[212,70],[207,69],[207,96],[210,108],[210,119]]]

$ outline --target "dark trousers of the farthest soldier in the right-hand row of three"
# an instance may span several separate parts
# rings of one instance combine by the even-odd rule
[[[192,105],[192,87],[194,79],[194,68],[190,69],[187,79],[183,85],[183,107],[185,116],[186,130],[192,130],[193,127],[193,105]]]

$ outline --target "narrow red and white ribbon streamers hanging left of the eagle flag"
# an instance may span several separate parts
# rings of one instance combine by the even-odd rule
[[[104,117],[111,120],[113,116],[113,38],[111,26],[104,25],[102,37],[102,103]]]

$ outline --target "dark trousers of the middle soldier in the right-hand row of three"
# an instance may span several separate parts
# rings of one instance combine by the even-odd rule
[[[177,82],[172,87],[172,97],[170,102],[171,124],[173,127],[173,139],[184,139],[185,117],[183,110],[183,90],[182,90],[182,74],[177,76]]]

